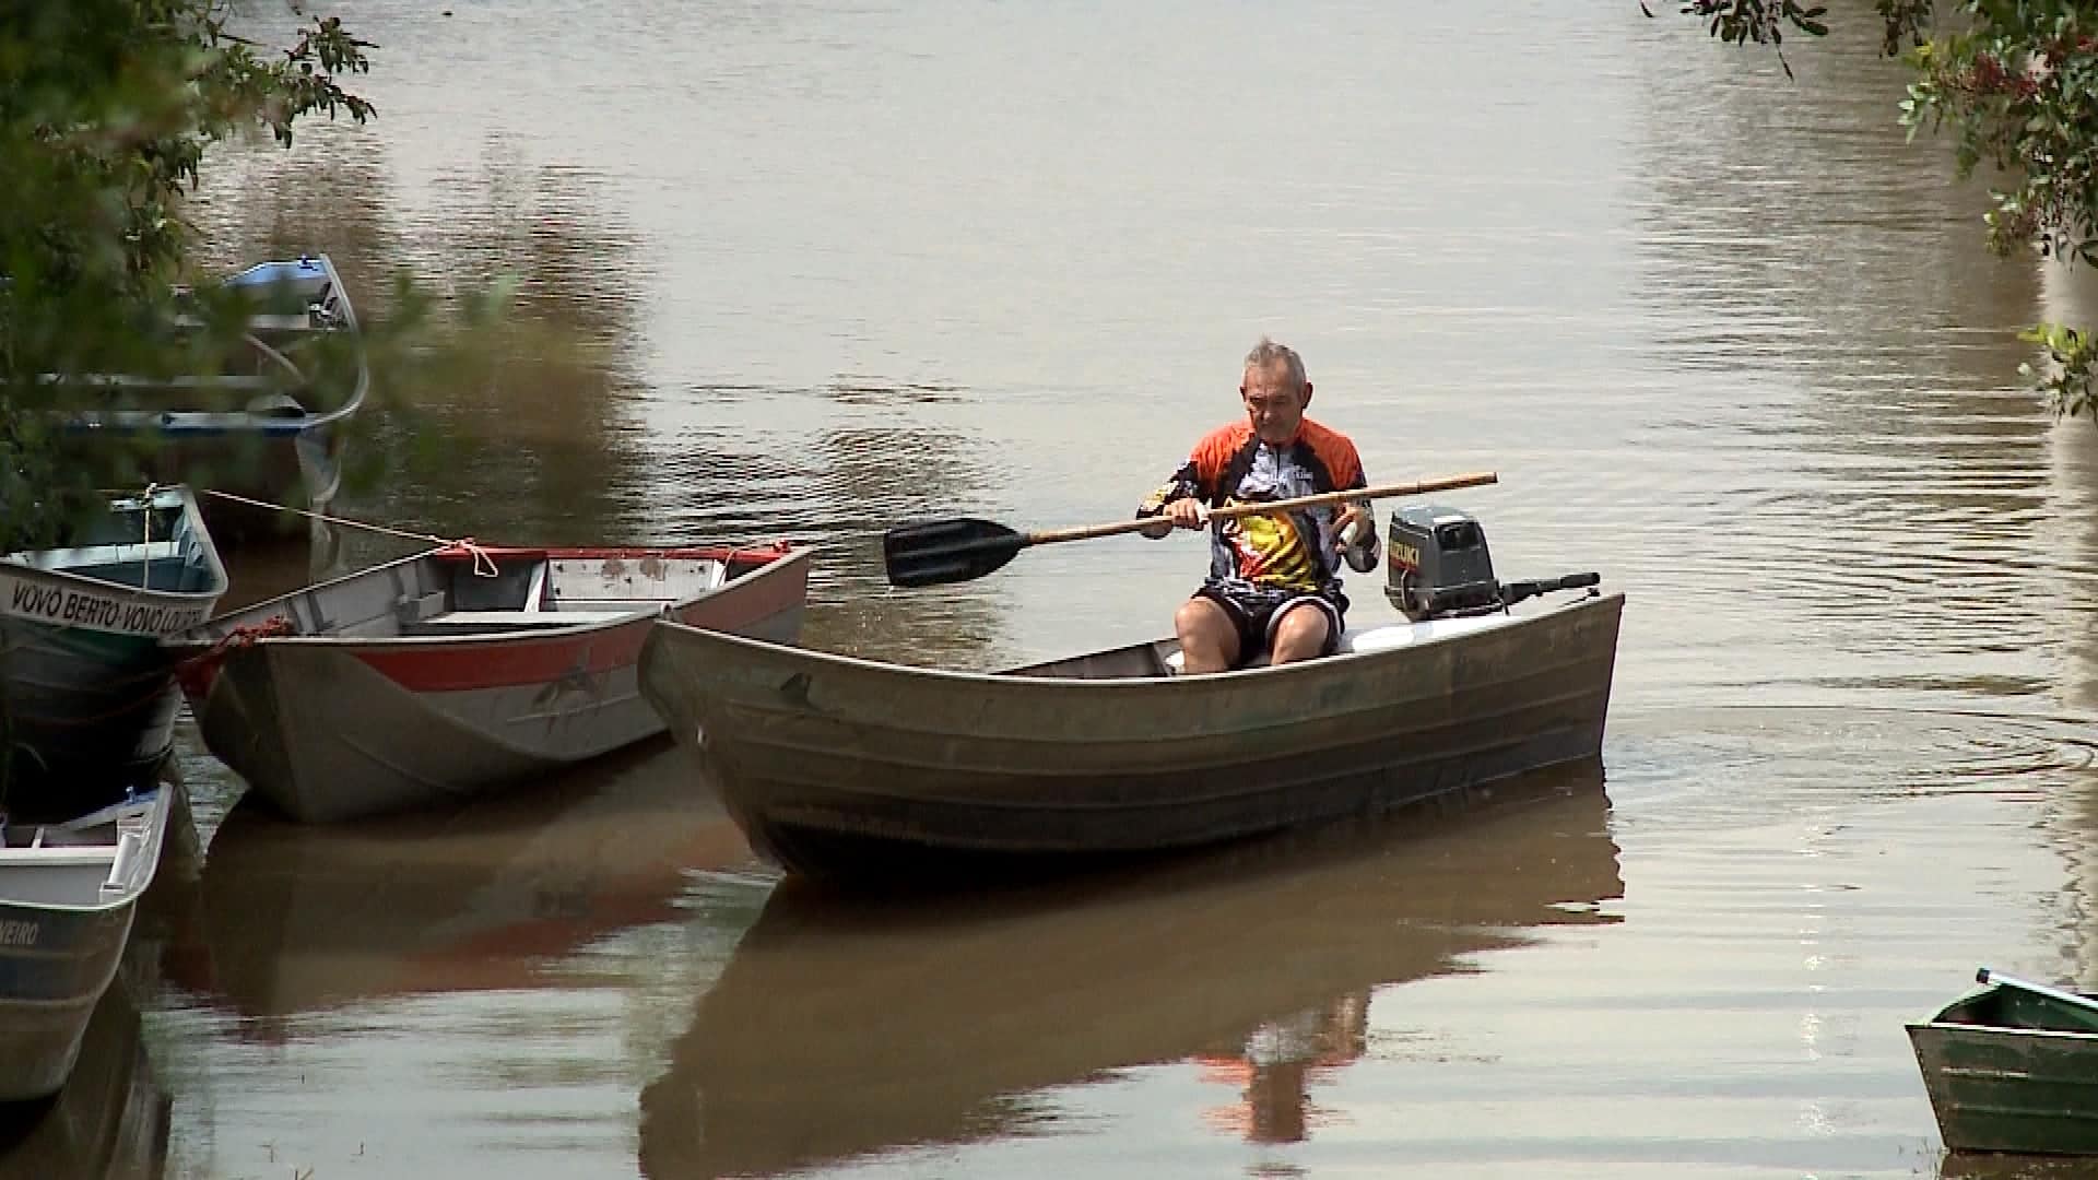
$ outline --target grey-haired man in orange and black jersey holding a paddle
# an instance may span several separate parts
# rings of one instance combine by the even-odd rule
[[[1211,430],[1137,517],[1160,517],[1148,538],[1208,525],[1208,580],[1173,628],[1181,672],[1223,672],[1267,651],[1269,663],[1330,655],[1347,596],[1341,563],[1357,573],[1380,559],[1370,502],[1211,521],[1211,508],[1368,487],[1355,443],[1305,418],[1311,382],[1294,349],[1261,338],[1238,384],[1246,420]]]

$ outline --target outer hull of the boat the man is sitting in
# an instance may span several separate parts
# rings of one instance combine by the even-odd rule
[[[1234,840],[1594,760],[1622,603],[1288,668],[1114,680],[657,626],[642,684],[755,848],[804,876],[892,878],[934,859]]]

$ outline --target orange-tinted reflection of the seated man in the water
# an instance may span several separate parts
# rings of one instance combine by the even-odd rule
[[[1368,1044],[1368,993],[1343,993],[1324,1008],[1267,1020],[1238,1046],[1194,1058],[1202,1081],[1238,1088],[1238,1102],[1208,1107],[1202,1121],[1246,1142],[1303,1142],[1320,1119],[1311,1083],[1362,1058]]]

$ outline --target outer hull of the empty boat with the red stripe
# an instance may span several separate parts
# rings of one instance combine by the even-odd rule
[[[793,642],[808,554],[676,607],[692,626]],[[206,745],[302,823],[438,806],[663,733],[636,661],[655,613],[459,640],[271,638],[224,655]]]

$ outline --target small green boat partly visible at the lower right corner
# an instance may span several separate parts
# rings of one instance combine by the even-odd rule
[[[1909,1044],[1951,1151],[2098,1155],[2098,997],[1983,968]]]

